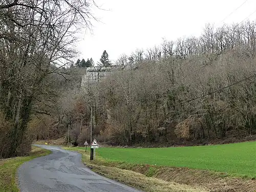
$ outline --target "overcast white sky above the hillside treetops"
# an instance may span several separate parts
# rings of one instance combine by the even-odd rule
[[[122,53],[160,45],[162,38],[200,35],[206,23],[221,26],[239,23],[254,11],[256,1],[247,0],[95,0],[103,10],[94,10],[101,22],[93,22],[93,34],[81,35],[80,58],[99,61],[104,50],[115,60]],[[228,16],[228,17],[227,17]],[[222,20],[227,17],[224,22]],[[256,12],[248,19],[256,20]],[[221,23],[222,22],[222,23]]]

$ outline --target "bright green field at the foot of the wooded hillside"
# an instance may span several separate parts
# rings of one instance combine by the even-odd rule
[[[110,161],[188,167],[256,177],[256,141],[168,148],[102,147],[96,152]]]

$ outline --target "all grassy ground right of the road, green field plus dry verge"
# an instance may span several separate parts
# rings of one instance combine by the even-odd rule
[[[144,191],[256,191],[256,142],[169,148],[99,148],[95,172]]]

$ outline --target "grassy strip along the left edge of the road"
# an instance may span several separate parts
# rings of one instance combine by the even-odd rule
[[[33,146],[30,156],[0,159],[0,191],[18,192],[19,189],[16,178],[17,168],[26,161],[48,155],[50,153],[51,152],[48,150]]]

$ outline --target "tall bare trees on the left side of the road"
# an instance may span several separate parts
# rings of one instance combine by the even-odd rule
[[[0,158],[26,155],[28,123],[51,115],[61,68],[76,55],[76,31],[90,28],[93,1],[0,1]],[[38,119],[41,119],[38,117]]]

